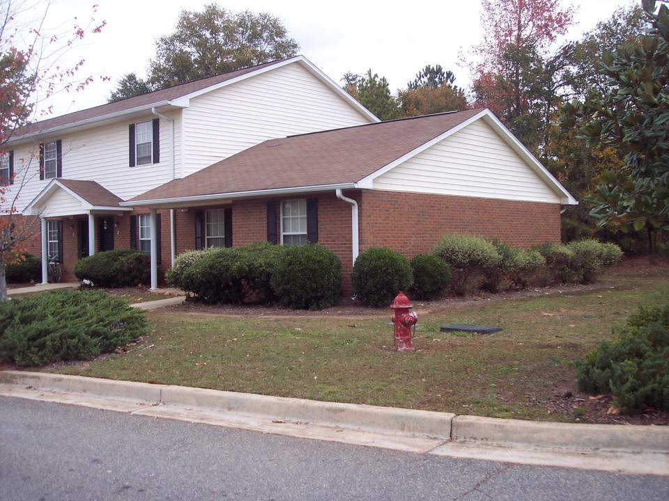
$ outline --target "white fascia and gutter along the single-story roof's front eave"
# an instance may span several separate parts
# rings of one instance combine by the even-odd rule
[[[153,200],[141,200],[133,202],[121,202],[121,207],[157,207],[162,205],[171,207],[188,207],[189,205],[206,205],[221,200],[233,200],[235,198],[257,198],[262,196],[298,195],[300,193],[313,193],[314,191],[336,191],[337,189],[359,188],[357,183],[325,184],[321,186],[298,186],[295,188],[277,188],[267,190],[236,191],[233,193],[213,193],[210,195],[194,195],[175,198],[154,198]]]

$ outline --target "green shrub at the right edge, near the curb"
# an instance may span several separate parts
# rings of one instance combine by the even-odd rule
[[[576,362],[578,388],[610,391],[629,413],[669,410],[669,305],[640,308],[613,332],[613,342],[602,342]]]

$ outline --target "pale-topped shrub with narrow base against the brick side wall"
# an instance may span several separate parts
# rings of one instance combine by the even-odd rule
[[[445,234],[432,248],[432,254],[450,265],[451,289],[458,296],[477,287],[485,273],[495,269],[502,260],[490,241],[460,233]]]

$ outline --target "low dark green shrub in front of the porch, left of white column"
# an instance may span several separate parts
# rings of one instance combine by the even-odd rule
[[[75,264],[75,275],[98,287],[146,284],[151,278],[151,257],[141,250],[106,250],[79,260]]]

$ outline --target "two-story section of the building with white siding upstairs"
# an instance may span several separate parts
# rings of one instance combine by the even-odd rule
[[[59,260],[65,279],[82,256],[148,252],[152,230],[166,269],[176,253],[174,210],[151,228],[147,209],[120,202],[268,138],[376,121],[297,56],[36,122],[6,144],[0,174],[13,180],[6,198],[16,197],[20,214],[40,217],[31,253]],[[223,209],[206,213],[208,245],[223,243],[224,217]]]

